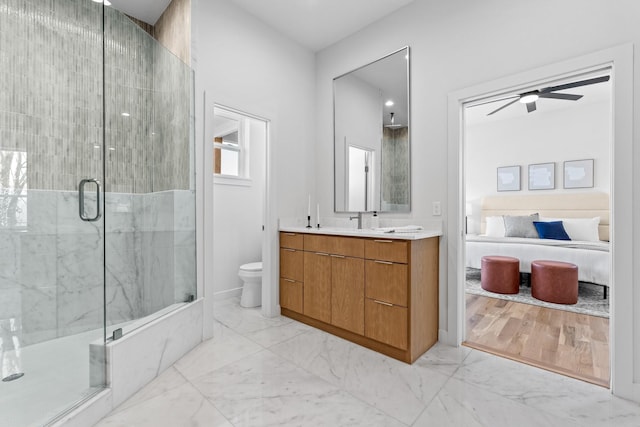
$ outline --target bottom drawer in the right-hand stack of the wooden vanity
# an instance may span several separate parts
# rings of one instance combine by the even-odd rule
[[[364,335],[384,344],[407,349],[408,309],[365,298]]]

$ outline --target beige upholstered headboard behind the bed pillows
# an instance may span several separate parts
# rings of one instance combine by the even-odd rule
[[[549,218],[600,217],[600,240],[609,240],[609,195],[605,193],[565,193],[550,195],[488,196],[482,199],[481,232],[488,216],[529,215]]]

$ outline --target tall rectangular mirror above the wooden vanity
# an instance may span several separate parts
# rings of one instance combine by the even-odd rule
[[[409,47],[333,79],[336,212],[411,210]]]

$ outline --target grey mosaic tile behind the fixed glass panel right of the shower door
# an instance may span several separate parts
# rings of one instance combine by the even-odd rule
[[[191,92],[186,64],[105,9],[106,191],[189,189]]]

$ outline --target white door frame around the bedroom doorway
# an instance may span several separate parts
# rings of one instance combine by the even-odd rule
[[[633,310],[635,270],[633,250],[640,247],[633,237],[640,237],[634,228],[633,164],[640,155],[633,152],[633,45],[625,44],[597,51],[559,63],[482,83],[449,94],[448,97],[448,215],[447,236],[447,328],[443,341],[459,346],[465,337],[464,260],[465,260],[465,188],[464,188],[464,104],[519,87],[571,76],[589,70],[611,68],[612,129],[611,129],[611,273],[610,292],[610,353],[611,391],[621,397],[640,401],[640,364],[634,357],[640,354],[640,331],[633,330],[637,320]],[[636,196],[640,201],[640,197]],[[639,220],[636,220],[640,222]],[[637,240],[636,240],[637,241]],[[636,273],[637,274],[637,273]],[[633,374],[633,375],[630,375]]]

